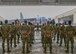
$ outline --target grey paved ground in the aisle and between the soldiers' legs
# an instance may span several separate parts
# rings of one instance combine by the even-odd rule
[[[34,33],[34,44],[32,44],[32,48],[31,48],[31,52],[29,54],[45,54],[43,53],[43,47],[42,47],[42,43],[41,43],[41,32],[40,31],[35,31]],[[56,41],[53,41],[52,44],[52,54],[67,54],[65,53],[65,47],[64,44],[62,47],[59,47],[59,45],[56,43]],[[18,44],[18,46],[16,48],[13,47],[13,49],[11,49],[12,52],[11,53],[5,53],[5,54],[22,54],[22,43]],[[2,47],[1,47],[1,38],[0,38],[0,54],[2,54]],[[46,54],[50,54],[49,50],[47,50]],[[71,54],[71,53],[68,53]],[[74,44],[74,54],[76,54],[76,40],[75,40],[75,44]]]

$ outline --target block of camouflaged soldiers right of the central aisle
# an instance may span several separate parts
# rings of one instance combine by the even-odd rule
[[[49,48],[50,53],[52,53],[52,40],[54,40],[59,47],[65,47],[66,53],[69,53],[70,48],[71,53],[73,53],[75,33],[76,28],[71,25],[71,22],[67,26],[64,23],[52,24],[51,22],[47,22],[43,24],[41,27],[41,36],[44,52],[46,53],[47,48]]]

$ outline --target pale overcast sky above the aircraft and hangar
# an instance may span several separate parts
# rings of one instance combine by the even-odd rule
[[[54,18],[76,6],[0,6],[0,16],[4,19],[19,19],[20,12],[24,18],[35,18],[37,15]]]

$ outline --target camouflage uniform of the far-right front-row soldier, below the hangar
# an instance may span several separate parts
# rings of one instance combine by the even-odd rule
[[[69,42],[71,42],[71,53],[73,53],[73,48],[74,48],[74,34],[75,34],[75,29],[73,26],[69,25],[66,27],[66,47],[67,50],[66,52],[69,52]]]

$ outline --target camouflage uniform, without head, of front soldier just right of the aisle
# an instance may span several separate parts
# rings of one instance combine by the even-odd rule
[[[50,24],[45,25],[45,35],[44,35],[44,52],[46,52],[46,47],[49,45],[50,53],[52,52],[52,31],[53,27]]]

